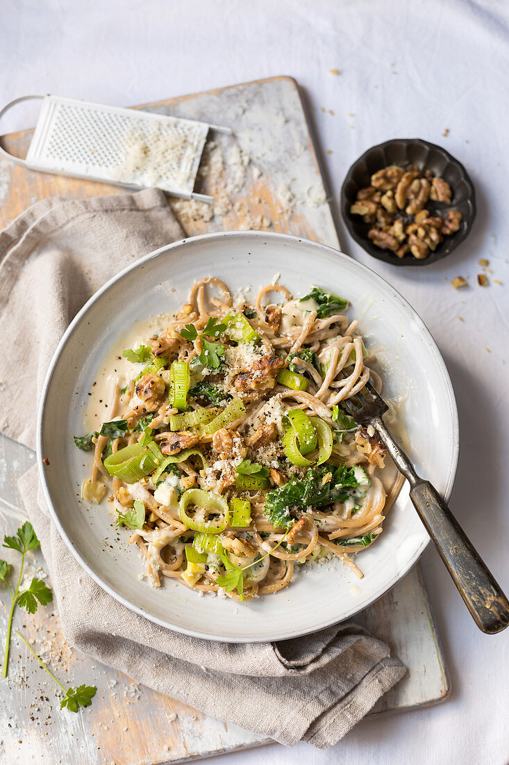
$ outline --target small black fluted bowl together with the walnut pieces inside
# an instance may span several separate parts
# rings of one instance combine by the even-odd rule
[[[475,217],[475,192],[462,164],[419,138],[365,152],[342,187],[342,213],[370,255],[426,265],[452,252]]]

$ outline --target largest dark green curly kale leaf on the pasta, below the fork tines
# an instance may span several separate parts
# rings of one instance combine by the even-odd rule
[[[361,498],[365,496],[368,486],[368,474],[355,465],[346,467],[342,463],[310,467],[303,478],[290,478],[284,486],[269,491],[265,496],[264,513],[274,526],[288,529],[292,521],[290,511]]]

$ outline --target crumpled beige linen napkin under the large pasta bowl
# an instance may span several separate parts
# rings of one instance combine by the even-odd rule
[[[43,200],[0,234],[0,429],[6,435],[34,447],[37,395],[50,357],[93,292],[134,259],[182,236],[157,190]],[[303,740],[326,749],[404,675],[390,649],[355,624],[247,645],[158,627],[80,568],[50,522],[35,469],[20,485],[66,639],[157,691],[282,744]]]

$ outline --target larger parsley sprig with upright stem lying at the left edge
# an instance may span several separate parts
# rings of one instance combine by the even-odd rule
[[[21,554],[21,568],[18,576],[18,584],[16,584],[16,588],[13,590],[11,584],[8,582],[8,576],[11,573],[12,566],[6,561],[0,561],[0,580],[7,585],[8,591],[11,594],[11,608],[9,610],[7,621],[7,635],[5,637],[3,677],[7,677],[9,649],[11,646],[12,617],[15,612],[16,604],[28,610],[29,614],[35,614],[38,603],[46,606],[53,600],[53,594],[51,594],[50,588],[44,584],[44,581],[41,581],[41,579],[37,579],[36,577],[32,579],[30,586],[27,589],[20,590],[21,578],[23,577],[24,556],[29,550],[36,550],[39,545],[40,542],[34,532],[34,527],[28,521],[24,522],[23,526],[18,529],[15,536],[5,535],[4,537],[3,546],[11,550],[16,550]]]

